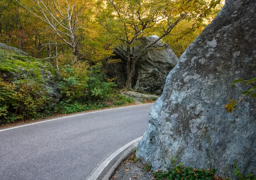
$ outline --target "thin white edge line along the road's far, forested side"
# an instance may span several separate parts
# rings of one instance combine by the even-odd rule
[[[143,106],[143,105],[147,105],[147,104],[139,104],[139,105],[134,105],[134,106]],[[37,122],[37,123],[31,123],[31,124],[25,124],[25,125],[21,125],[21,126],[15,126],[15,127],[12,127],[12,128],[1,129],[0,132],[11,130],[11,129],[16,129],[16,128],[21,128],[21,127],[24,127],[24,126],[31,126],[31,125],[34,125],[34,124],[46,123],[46,122],[53,121],[53,120],[60,120],[60,119],[65,119],[65,118],[69,118],[69,117],[81,116],[81,115],[85,115],[85,114],[91,114],[91,113],[102,112],[102,111],[110,111],[110,110],[114,110],[114,109],[128,108],[128,107],[134,107],[134,106],[125,106],[125,107],[119,107],[119,108],[113,108],[113,109],[104,109],[104,110],[100,110],[100,111],[92,111],[92,112],[86,112],[86,113],[82,113],[82,114],[59,117],[59,118],[52,119],[52,120],[45,120],[45,121],[40,121],[40,122]]]

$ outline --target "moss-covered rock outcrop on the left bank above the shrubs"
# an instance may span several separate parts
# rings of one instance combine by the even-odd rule
[[[49,92],[52,103],[62,99],[58,87],[58,75],[55,68],[44,60],[29,57],[29,54],[12,46],[0,43],[0,77],[5,74],[6,81],[29,79],[33,82],[44,84],[44,89]],[[3,53],[3,57],[1,54]],[[20,55],[21,54],[21,55]],[[8,56],[8,59],[5,59]]]

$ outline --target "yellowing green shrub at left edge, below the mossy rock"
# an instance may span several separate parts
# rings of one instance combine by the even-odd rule
[[[6,82],[0,78],[0,123],[35,117],[46,109],[48,101],[42,83],[28,79]]]

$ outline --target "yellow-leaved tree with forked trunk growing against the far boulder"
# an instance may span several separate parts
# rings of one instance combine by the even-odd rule
[[[101,6],[104,10],[99,11],[97,17],[108,34],[127,50],[126,89],[133,89],[136,64],[146,51],[159,48],[157,42],[170,35],[172,29],[183,20],[194,22],[184,32],[195,30],[219,3],[220,0],[210,3],[206,0],[174,0],[171,3],[169,0],[105,0]],[[156,29],[160,32],[159,38],[135,54],[135,41],[152,35]]]

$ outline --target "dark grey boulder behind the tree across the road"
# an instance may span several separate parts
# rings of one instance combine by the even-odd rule
[[[142,48],[154,41],[157,36],[144,37],[136,42],[138,46],[134,47],[134,53],[138,54]],[[163,46],[158,43],[157,46]],[[126,48],[117,46],[113,59],[120,59],[119,63],[105,62],[105,77],[116,78],[115,82],[119,87],[125,87],[127,80],[126,65]],[[136,72],[133,79],[133,89],[154,94],[161,94],[165,84],[165,79],[170,70],[177,64],[178,58],[170,48],[162,50],[147,51],[136,65]],[[111,61],[109,61],[111,62]]]

